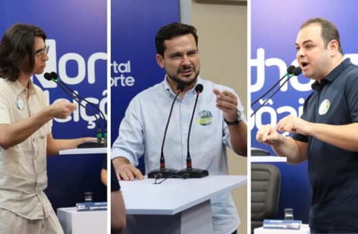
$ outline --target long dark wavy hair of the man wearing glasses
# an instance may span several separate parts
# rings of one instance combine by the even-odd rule
[[[6,30],[0,42],[0,77],[16,81],[21,70],[29,74],[34,70],[35,36],[46,39],[35,25],[15,23]]]

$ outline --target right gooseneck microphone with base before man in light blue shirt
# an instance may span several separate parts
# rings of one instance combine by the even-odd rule
[[[195,87],[196,91],[196,100],[193,107],[193,114],[191,115],[190,125],[189,125],[189,132],[188,132],[188,140],[187,140],[187,169],[182,169],[180,171],[177,171],[175,175],[178,175],[180,178],[203,178],[205,176],[209,175],[209,172],[207,170],[202,170],[198,168],[191,167],[191,156],[190,156],[190,150],[189,150],[189,138],[190,138],[190,131],[191,131],[191,124],[193,123],[193,117],[196,109],[196,104],[198,103],[199,94],[202,92],[202,89],[204,87],[202,84],[198,84]]]

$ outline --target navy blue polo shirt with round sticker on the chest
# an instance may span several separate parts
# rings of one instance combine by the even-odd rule
[[[328,125],[358,122],[358,67],[349,58],[312,87],[301,118]],[[312,136],[292,137],[308,142],[308,178],[313,188],[310,227],[358,232],[358,153]]]

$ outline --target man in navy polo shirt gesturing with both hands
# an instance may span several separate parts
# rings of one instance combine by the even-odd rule
[[[302,24],[295,42],[304,76],[315,80],[301,118],[265,125],[256,139],[290,164],[308,160],[311,233],[358,233],[358,67],[344,59],[335,25]],[[277,131],[289,131],[284,138]]]

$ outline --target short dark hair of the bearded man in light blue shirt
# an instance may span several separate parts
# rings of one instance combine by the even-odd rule
[[[198,35],[196,34],[196,28],[194,26],[178,22],[162,26],[156,34],[156,53],[164,58],[164,51],[166,49],[164,41],[187,34],[193,35],[196,41],[196,47],[198,47]]]

